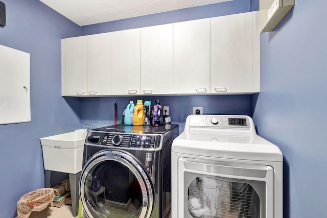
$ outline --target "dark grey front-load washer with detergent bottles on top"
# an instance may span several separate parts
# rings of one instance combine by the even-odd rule
[[[171,217],[171,144],[178,125],[88,131],[80,178],[84,217]]]

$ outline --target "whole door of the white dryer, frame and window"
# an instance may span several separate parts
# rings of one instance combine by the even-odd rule
[[[273,168],[181,158],[183,216],[272,218]]]

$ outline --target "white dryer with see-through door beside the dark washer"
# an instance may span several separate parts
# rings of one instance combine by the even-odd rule
[[[249,116],[188,116],[172,144],[172,217],[283,217],[281,150]]]

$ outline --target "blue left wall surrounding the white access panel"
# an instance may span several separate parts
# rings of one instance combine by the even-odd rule
[[[22,195],[44,187],[39,138],[81,128],[79,99],[61,97],[60,41],[81,28],[38,0],[2,2],[0,44],[31,54],[31,122],[0,125],[0,217],[10,218]]]

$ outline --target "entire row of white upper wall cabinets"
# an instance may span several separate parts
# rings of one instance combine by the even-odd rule
[[[259,12],[62,39],[62,95],[260,91]]]

